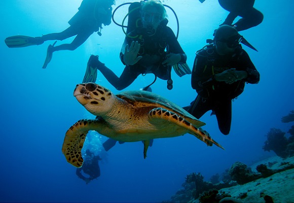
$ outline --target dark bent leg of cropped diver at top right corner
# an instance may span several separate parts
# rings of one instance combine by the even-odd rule
[[[240,16],[242,18],[234,24],[238,31],[242,31],[259,25],[264,19],[264,15],[262,14],[262,12],[254,8],[250,9],[250,11],[247,10],[242,12]]]

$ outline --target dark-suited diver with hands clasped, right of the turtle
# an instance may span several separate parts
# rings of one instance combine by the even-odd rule
[[[231,129],[232,99],[243,92],[245,83],[260,81],[259,72],[239,44],[243,40],[232,26],[215,30],[213,43],[196,52],[191,85],[198,95],[190,106],[183,107],[197,119],[212,110],[225,135]]]

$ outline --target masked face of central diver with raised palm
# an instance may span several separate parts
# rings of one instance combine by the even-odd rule
[[[143,27],[147,29],[148,35],[154,35],[162,20],[162,14],[155,8],[149,7],[142,11]]]

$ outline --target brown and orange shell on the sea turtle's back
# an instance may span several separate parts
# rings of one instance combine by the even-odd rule
[[[124,91],[116,95],[117,97],[124,99],[127,103],[131,104],[134,108],[136,107],[148,107],[148,106],[156,106],[165,108],[171,112],[176,113],[177,115],[182,116],[190,123],[192,123],[195,127],[201,127],[205,125],[204,122],[198,120],[185,109],[176,105],[172,101],[160,96],[159,94],[149,92],[149,91]]]

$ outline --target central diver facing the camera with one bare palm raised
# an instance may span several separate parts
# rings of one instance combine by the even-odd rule
[[[187,56],[173,31],[167,26],[166,17],[164,5],[159,0],[132,3],[129,7],[127,34],[120,53],[120,59],[126,65],[122,75],[118,77],[99,61],[98,56],[92,55],[83,83],[95,82],[95,71],[99,70],[109,83],[122,90],[132,84],[140,74],[152,73],[167,80],[167,88],[172,89],[172,66],[179,77],[191,74],[186,63]]]

